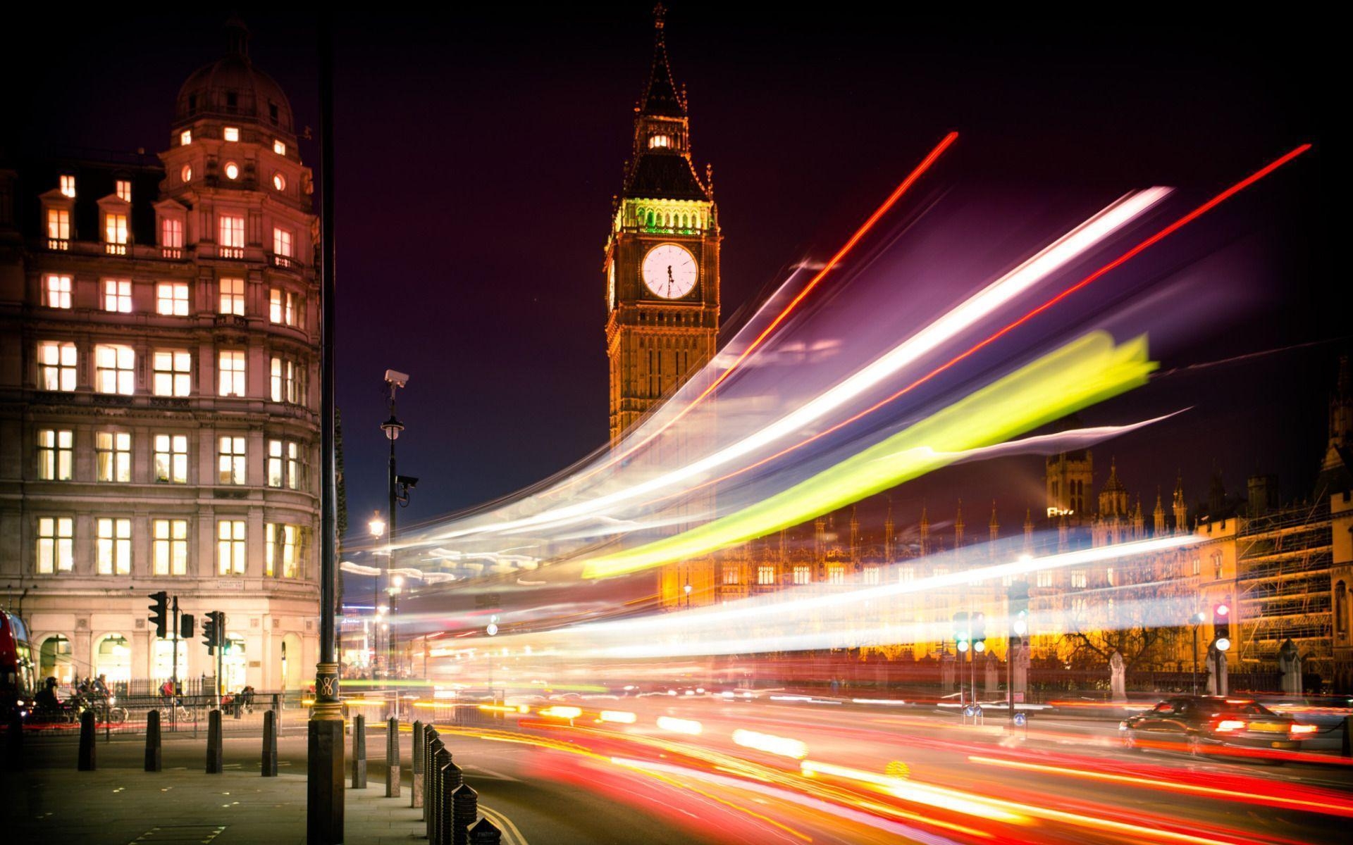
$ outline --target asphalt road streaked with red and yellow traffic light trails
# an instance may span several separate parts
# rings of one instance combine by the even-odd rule
[[[549,717],[537,706],[482,726],[438,726],[480,802],[536,845],[1345,842],[1353,818],[1353,767],[1338,760],[1126,752],[1111,722],[1049,717],[1009,730],[769,698],[557,706],[583,713]],[[603,708],[633,722],[598,722]],[[383,733],[379,725],[368,737],[373,784],[384,777]],[[407,767],[407,733],[403,741]],[[73,765],[69,738],[31,745]],[[200,771],[203,746],[166,741],[165,768]],[[137,737],[115,737],[100,745],[100,767],[137,768],[141,749]],[[256,768],[257,752],[257,737],[229,737],[226,765]],[[284,733],[281,771],[303,772],[304,753],[303,734]]]

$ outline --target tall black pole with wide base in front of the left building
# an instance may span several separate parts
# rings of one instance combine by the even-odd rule
[[[319,19],[319,662],[306,756],[306,841],[344,841],[344,735],[338,703],[334,603],[337,596],[337,488],[334,466],[334,73],[333,20]]]

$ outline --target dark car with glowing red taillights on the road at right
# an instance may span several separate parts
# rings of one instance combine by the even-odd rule
[[[1300,750],[1318,727],[1250,698],[1180,695],[1123,719],[1118,730],[1127,749],[1183,746],[1197,756],[1208,746]]]

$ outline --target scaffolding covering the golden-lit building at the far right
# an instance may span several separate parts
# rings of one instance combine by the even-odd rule
[[[1245,521],[1235,544],[1241,668],[1273,665],[1291,639],[1307,671],[1327,675],[1334,657],[1329,502]]]

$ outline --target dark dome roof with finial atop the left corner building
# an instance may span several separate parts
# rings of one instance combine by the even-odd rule
[[[281,87],[249,61],[249,30],[226,23],[226,54],[195,70],[179,89],[175,124],[203,116],[252,120],[294,135],[291,103]]]

